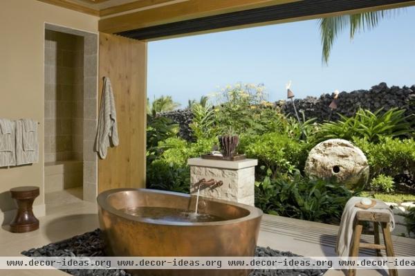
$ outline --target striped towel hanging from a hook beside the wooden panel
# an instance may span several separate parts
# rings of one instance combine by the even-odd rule
[[[116,102],[114,101],[111,81],[108,77],[104,77],[95,151],[104,159],[107,156],[107,148],[116,147],[118,144]]]

